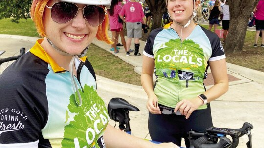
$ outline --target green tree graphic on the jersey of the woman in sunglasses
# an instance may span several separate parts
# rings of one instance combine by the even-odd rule
[[[80,89],[78,91],[80,92],[82,97],[82,105],[78,106],[76,104],[75,97],[73,94],[70,96],[70,104],[68,105],[68,109],[71,113],[76,113],[76,115],[74,116],[74,121],[70,121],[69,125],[65,126],[64,139],[62,140],[62,148],[75,148],[75,144],[73,141],[74,138],[78,138],[78,144],[80,148],[83,148],[85,146],[87,146],[87,148],[90,148],[94,144],[94,142],[88,144],[87,139],[94,139],[94,146],[96,148],[100,148],[97,144],[97,139],[101,135],[103,135],[102,131],[104,131],[105,126],[107,125],[107,123],[105,125],[103,124],[104,122],[102,121],[101,117],[102,115],[105,117],[105,122],[107,122],[108,119],[108,115],[103,112],[107,112],[107,109],[104,105],[104,101],[98,96],[97,92],[93,89],[93,87],[85,85],[84,92],[82,92]],[[76,99],[78,100],[77,92]],[[95,112],[95,117],[92,115],[91,111]],[[92,120],[90,119],[90,117],[92,118]],[[94,136],[91,132],[88,132],[89,134],[87,137],[87,129],[92,128],[94,130],[94,122],[96,120],[100,120],[100,122],[97,124],[97,129],[103,130],[100,132],[100,134],[97,134],[96,131],[94,131]]]

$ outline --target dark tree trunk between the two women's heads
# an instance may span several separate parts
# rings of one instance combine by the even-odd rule
[[[152,14],[151,30],[161,27],[162,15],[167,11],[166,0],[145,0]]]

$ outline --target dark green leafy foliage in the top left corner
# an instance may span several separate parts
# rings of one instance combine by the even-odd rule
[[[1,0],[0,19],[10,18],[11,21],[19,23],[19,19],[30,18],[29,11],[32,0]]]

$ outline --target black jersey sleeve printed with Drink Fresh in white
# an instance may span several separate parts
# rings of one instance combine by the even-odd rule
[[[48,117],[43,67],[47,63],[28,52],[0,75],[0,144],[40,139]]]

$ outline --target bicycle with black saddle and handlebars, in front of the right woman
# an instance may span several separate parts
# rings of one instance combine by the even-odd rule
[[[129,111],[139,111],[139,109],[122,98],[112,98],[108,104],[110,119],[119,122],[120,130],[131,134]],[[244,135],[247,135],[249,139],[246,143],[247,148],[252,148],[251,129],[253,129],[253,126],[245,122],[240,129],[208,127],[205,132],[190,130],[188,132],[190,148],[236,148],[239,144],[239,138]],[[232,137],[232,142],[226,137],[227,135]],[[149,141],[160,143],[152,140]]]

